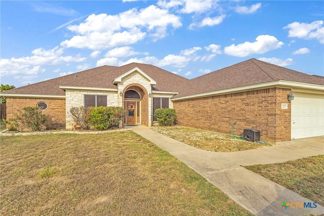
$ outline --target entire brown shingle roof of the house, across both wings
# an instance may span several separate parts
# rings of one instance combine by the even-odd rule
[[[152,90],[180,92],[174,98],[244,87],[263,82],[286,80],[324,85],[324,77],[308,75],[284,67],[250,59],[209,74],[186,79],[153,65],[131,63],[120,67],[101,66],[66,76],[8,90],[2,94],[65,95],[59,85],[117,89],[113,79],[138,67],[156,81]]]

